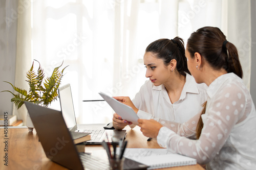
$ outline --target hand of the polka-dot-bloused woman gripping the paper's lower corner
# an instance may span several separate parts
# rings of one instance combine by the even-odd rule
[[[159,122],[154,119],[146,120],[146,119],[138,119],[140,131],[144,136],[156,138],[160,128],[163,127]]]

